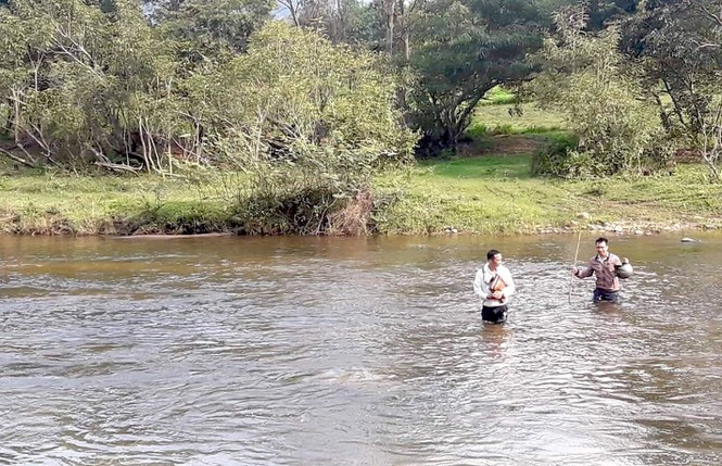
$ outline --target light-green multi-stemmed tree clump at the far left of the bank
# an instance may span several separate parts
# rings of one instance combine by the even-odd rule
[[[11,0],[0,9],[0,96],[23,163],[162,169],[179,124],[175,65],[138,4]],[[18,152],[8,151],[15,156]]]

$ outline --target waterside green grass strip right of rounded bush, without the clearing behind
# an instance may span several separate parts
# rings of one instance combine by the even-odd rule
[[[534,178],[529,156],[491,155],[426,163],[413,169],[401,201],[379,218],[387,234],[530,234],[615,223],[656,231],[666,225],[722,225],[722,186],[702,166],[676,176],[563,181]],[[379,192],[393,190],[391,177]],[[398,188],[396,188],[398,189]],[[580,219],[581,213],[588,218]]]

